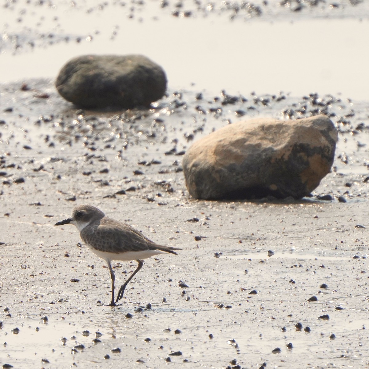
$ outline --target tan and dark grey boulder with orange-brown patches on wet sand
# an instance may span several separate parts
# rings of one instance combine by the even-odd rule
[[[187,189],[195,199],[300,199],[330,172],[337,139],[325,115],[233,123],[187,150]]]

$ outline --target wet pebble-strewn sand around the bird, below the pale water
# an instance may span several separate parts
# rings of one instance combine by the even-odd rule
[[[368,365],[369,102],[205,88],[169,86],[149,111],[97,112],[63,101],[50,80],[1,84],[1,365]],[[248,118],[318,113],[339,141],[312,197],[189,197],[181,165],[193,140]],[[54,227],[79,204],[182,251],[146,259],[121,306],[103,306],[105,262],[75,227]],[[114,268],[119,286],[136,262]]]

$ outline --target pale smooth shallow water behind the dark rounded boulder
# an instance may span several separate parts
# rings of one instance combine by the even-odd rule
[[[3,31],[0,82],[55,78],[66,61],[82,54],[144,54],[164,68],[172,89],[194,84],[210,92],[282,90],[292,96],[319,92],[369,100],[369,53],[363,47],[369,16],[320,18],[313,12],[310,18],[266,13],[246,21],[221,15],[177,18],[158,13],[157,3],[149,1],[136,13],[158,15],[139,21],[127,18],[127,7],[90,8],[84,3],[33,6],[18,23],[14,16],[20,10],[4,10],[0,24],[9,23]],[[14,42],[20,46],[14,49]]]

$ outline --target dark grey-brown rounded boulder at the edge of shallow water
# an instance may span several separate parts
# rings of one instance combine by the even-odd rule
[[[142,55],[83,55],[63,66],[55,85],[80,107],[134,108],[160,99],[166,82],[161,66]]]

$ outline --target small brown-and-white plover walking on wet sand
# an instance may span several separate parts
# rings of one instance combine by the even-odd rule
[[[142,265],[144,265],[142,259],[166,253],[177,255],[173,250],[180,250],[172,246],[158,245],[130,225],[108,218],[100,209],[90,205],[75,207],[70,218],[55,223],[55,225],[69,223],[77,227],[82,241],[89,249],[97,256],[100,256],[100,258],[103,258],[108,264],[111,275],[111,303],[108,306],[115,306],[123,297],[128,282],[130,282],[132,277],[142,268]],[[138,262],[135,271],[120,287],[115,302],[115,275],[110,264],[112,260],[136,260]]]

